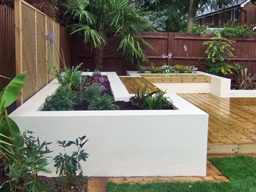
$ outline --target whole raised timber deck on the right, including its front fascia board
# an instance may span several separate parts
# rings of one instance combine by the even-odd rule
[[[179,95],[209,114],[208,154],[256,153],[256,98]]]

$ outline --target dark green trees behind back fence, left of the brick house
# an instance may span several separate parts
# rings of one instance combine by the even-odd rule
[[[228,4],[233,5],[238,0],[132,0],[140,6],[140,10],[154,11],[158,16],[164,16],[165,32],[191,32],[194,26],[195,17],[205,9],[219,10]],[[150,16],[149,16],[150,17]],[[158,21],[152,21],[159,25]],[[162,24],[162,23],[160,23]],[[186,30],[184,30],[186,28]],[[150,28],[151,30],[151,28]],[[159,30],[158,30],[159,31]]]

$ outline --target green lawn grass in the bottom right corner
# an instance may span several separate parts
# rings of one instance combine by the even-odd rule
[[[107,192],[256,192],[256,158],[235,156],[212,158],[230,182],[152,182],[107,184]]]

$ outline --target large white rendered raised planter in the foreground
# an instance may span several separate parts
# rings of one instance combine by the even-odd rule
[[[115,100],[130,94],[118,76],[106,73]],[[53,142],[50,155],[63,150],[57,140],[86,135],[90,154],[82,162],[87,176],[205,176],[208,114],[176,94],[167,94],[178,110],[40,111],[59,84],[53,80],[10,114],[21,132]],[[68,149],[68,148],[67,148]],[[74,148],[68,149],[69,152]],[[49,168],[56,176],[54,163]]]

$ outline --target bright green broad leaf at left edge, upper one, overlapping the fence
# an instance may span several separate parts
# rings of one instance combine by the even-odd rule
[[[4,113],[6,107],[16,101],[17,95],[24,86],[24,78],[27,72],[23,72],[16,76],[3,90],[0,92],[0,114]],[[1,115],[0,115],[1,116]]]

